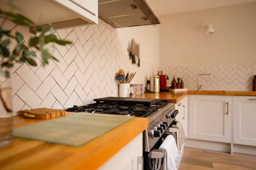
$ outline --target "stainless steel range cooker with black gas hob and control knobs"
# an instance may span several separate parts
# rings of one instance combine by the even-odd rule
[[[159,99],[142,99],[127,97],[104,97],[94,99],[96,103],[74,106],[68,112],[89,112],[93,114],[114,114],[148,118],[148,128],[143,132],[144,169],[150,169],[150,158],[162,158],[164,153],[158,150],[168,129],[175,123],[178,110],[174,103]]]

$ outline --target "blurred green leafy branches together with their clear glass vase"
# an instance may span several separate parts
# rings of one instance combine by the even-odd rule
[[[9,0],[9,5],[12,7],[12,1]],[[13,8],[11,8],[13,9]],[[37,27],[39,33],[33,32],[30,34],[29,46],[23,41],[23,35],[19,32],[13,33],[12,30],[4,29],[5,22],[11,19],[17,25],[30,26],[33,24],[26,16],[18,13],[6,12],[0,9],[0,16],[4,17],[0,23],[0,148],[9,145],[12,142],[12,109],[11,109],[11,82],[10,82],[10,69],[15,63],[24,63],[36,66],[37,63],[33,59],[36,57],[35,51],[39,50],[41,53],[42,65],[48,64],[48,59],[58,61],[52,56],[45,44],[55,42],[59,45],[66,45],[68,41],[57,39],[53,34],[53,27],[51,24],[43,29],[41,26]],[[14,50],[9,48],[11,40],[15,41]],[[13,42],[13,41],[12,41]],[[34,51],[30,48],[33,47]]]

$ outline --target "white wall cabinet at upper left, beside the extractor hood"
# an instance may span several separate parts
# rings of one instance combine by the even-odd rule
[[[18,7],[14,12],[34,22],[30,31],[49,23],[55,30],[98,23],[98,0],[14,0],[13,4]],[[9,8],[8,0],[1,1],[1,9]]]

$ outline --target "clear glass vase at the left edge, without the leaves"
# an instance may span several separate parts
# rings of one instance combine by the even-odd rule
[[[5,78],[0,71],[0,82],[0,148],[2,148],[13,141],[13,121],[11,79]]]

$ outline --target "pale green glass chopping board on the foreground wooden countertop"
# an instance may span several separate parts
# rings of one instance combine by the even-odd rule
[[[14,137],[79,147],[132,118],[81,112],[14,129]]]

